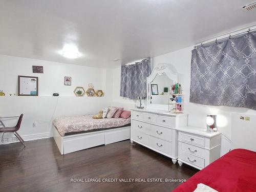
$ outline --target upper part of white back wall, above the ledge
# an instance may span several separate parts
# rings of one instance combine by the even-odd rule
[[[105,88],[105,69],[6,55],[0,55],[0,66],[0,90],[7,94],[17,94],[18,75],[37,76],[39,96],[52,96],[53,93],[74,96],[76,86],[86,89],[90,82],[94,84],[95,89]],[[44,66],[44,73],[32,73],[32,66]],[[72,77],[72,86],[64,86],[64,76]]]

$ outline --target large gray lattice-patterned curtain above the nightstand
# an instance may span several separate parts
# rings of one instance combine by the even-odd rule
[[[190,102],[256,110],[256,32],[192,51]]]

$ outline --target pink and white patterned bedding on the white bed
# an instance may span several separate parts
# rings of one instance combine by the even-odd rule
[[[110,127],[120,127],[131,123],[131,117],[93,119],[93,115],[82,115],[72,117],[59,117],[53,121],[53,125],[61,136],[72,132],[86,132],[91,130],[100,131]]]

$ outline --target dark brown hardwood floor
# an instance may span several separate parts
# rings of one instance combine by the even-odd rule
[[[197,169],[129,140],[60,155],[53,140],[0,145],[0,191],[172,191],[179,182],[86,182],[90,178],[187,179]],[[84,182],[71,182],[72,178]]]

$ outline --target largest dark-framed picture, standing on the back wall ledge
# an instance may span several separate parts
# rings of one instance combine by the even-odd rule
[[[38,77],[19,75],[18,96],[38,96]]]

